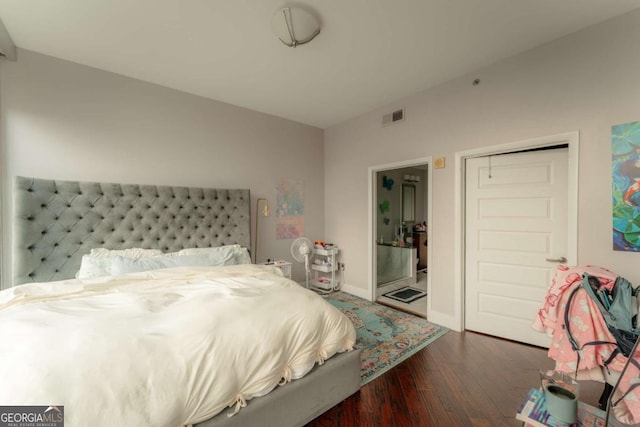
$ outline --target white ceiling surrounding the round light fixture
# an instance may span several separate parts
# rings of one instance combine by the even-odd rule
[[[271,16],[320,18],[283,45]],[[0,0],[16,46],[320,128],[640,7],[640,0]],[[19,60],[19,53],[18,53]]]

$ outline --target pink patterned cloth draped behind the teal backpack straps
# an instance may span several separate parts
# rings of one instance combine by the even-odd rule
[[[640,423],[640,387],[637,387],[640,385],[640,351],[631,352],[629,358],[614,353],[617,347],[614,336],[596,303],[581,289],[583,274],[597,277],[606,289],[612,289],[619,277],[598,266],[558,266],[533,328],[551,337],[549,357],[555,361],[556,371],[578,380],[603,382],[606,387],[601,405],[604,407],[609,401],[609,409],[619,421],[637,425]],[[632,303],[637,305],[638,301]],[[582,348],[579,352],[573,349],[567,329]],[[597,344],[585,346],[586,343]]]

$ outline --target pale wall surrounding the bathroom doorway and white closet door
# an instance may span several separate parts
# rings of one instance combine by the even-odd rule
[[[374,165],[446,157],[433,171],[432,314],[454,314],[454,153],[580,132],[578,262],[640,283],[640,254],[611,239],[611,126],[640,120],[640,11],[504,60],[325,131],[326,237],[353,291],[368,283],[368,176]],[[475,78],[481,80],[473,86]],[[382,127],[385,113],[406,119]]]

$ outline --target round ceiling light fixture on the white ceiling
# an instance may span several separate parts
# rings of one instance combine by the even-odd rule
[[[320,22],[304,9],[285,7],[273,14],[271,29],[282,43],[296,47],[309,43],[320,34]]]

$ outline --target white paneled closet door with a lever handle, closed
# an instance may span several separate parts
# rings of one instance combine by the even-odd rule
[[[567,256],[568,149],[467,159],[465,328],[548,347],[531,328]]]

